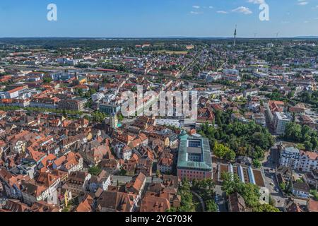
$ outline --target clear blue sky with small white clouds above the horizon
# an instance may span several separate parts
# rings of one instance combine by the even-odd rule
[[[259,3],[269,21],[259,20]],[[57,5],[57,21],[47,5]],[[318,36],[318,0],[1,0],[0,37]]]

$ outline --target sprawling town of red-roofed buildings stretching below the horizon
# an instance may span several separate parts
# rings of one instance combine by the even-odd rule
[[[318,212],[317,44],[0,39],[0,212]]]

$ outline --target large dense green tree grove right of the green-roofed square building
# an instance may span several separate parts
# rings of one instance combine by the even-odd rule
[[[231,111],[216,112],[216,124],[204,124],[199,134],[209,139],[216,156],[232,160],[237,155],[253,159],[262,159],[264,153],[273,145],[273,136],[268,129],[255,124],[254,121],[244,124],[231,119]],[[220,143],[226,143],[220,145]],[[230,151],[232,150],[232,151]],[[235,154],[235,155],[234,155]]]

